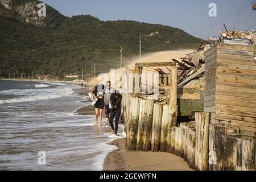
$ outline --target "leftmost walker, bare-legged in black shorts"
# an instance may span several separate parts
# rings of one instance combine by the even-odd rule
[[[95,120],[94,120],[94,125],[97,125],[97,120],[99,118],[98,126],[101,126],[102,122],[102,113],[104,109],[104,85],[97,85],[94,87],[93,90],[93,97],[98,98],[97,102],[94,105],[95,108]]]

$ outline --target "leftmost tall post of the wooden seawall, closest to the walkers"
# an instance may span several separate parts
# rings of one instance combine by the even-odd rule
[[[131,98],[130,103],[130,117],[127,125],[127,147],[129,150],[136,150],[138,120],[139,120],[139,98]]]

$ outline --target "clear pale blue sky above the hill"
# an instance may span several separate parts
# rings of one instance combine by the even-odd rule
[[[218,29],[229,28],[256,30],[256,10],[251,5],[236,13],[253,0],[42,0],[65,16],[96,16],[100,20],[136,20],[180,28],[193,36],[208,39],[218,36]],[[208,15],[209,3],[216,3],[217,17]],[[256,3],[256,1],[254,1]],[[236,13],[236,14],[234,14]],[[232,15],[234,14],[234,15]],[[206,27],[212,26],[212,28]],[[198,32],[203,30],[201,32]],[[197,33],[196,33],[197,32]],[[194,34],[196,33],[196,34]]]

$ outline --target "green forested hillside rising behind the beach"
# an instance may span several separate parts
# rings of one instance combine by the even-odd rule
[[[108,72],[119,67],[121,46],[123,65],[129,57],[138,56],[139,36],[142,53],[196,48],[201,41],[179,28],[129,20],[104,22],[90,15],[69,18],[50,6],[44,23],[44,27],[25,23],[18,13],[0,3],[2,75],[39,71],[63,77],[64,72],[81,74],[82,68],[90,75],[94,63],[97,73]]]

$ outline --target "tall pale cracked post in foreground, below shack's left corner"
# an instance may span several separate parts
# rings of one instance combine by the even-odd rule
[[[195,113],[196,121],[196,155],[195,168],[208,170],[209,123],[210,113]]]

